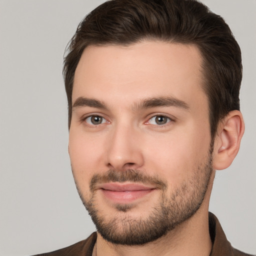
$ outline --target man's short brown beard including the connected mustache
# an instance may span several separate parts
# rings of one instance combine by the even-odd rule
[[[207,159],[194,166],[193,175],[178,188],[168,190],[166,180],[157,175],[149,176],[137,169],[108,170],[94,174],[90,180],[90,197],[85,199],[76,183],[78,194],[88,210],[97,232],[107,241],[122,245],[139,245],[154,241],[189,219],[199,209],[212,173],[212,150]],[[139,182],[152,184],[160,191],[160,198],[147,214],[134,217],[135,204],[114,204],[116,214],[106,217],[100,209],[95,185],[98,182]]]

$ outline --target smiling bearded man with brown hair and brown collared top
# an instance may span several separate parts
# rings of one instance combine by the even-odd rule
[[[97,232],[42,255],[248,255],[208,213],[244,131],[240,49],[194,0],[110,0],[64,60],[69,155]]]

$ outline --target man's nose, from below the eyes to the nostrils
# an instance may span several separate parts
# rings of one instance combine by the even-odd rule
[[[142,139],[139,131],[128,126],[115,127],[108,138],[106,164],[108,168],[123,171],[144,164]]]

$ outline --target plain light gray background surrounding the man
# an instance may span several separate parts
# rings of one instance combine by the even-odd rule
[[[0,255],[29,255],[93,230],[70,171],[62,55],[102,0],[0,0]],[[230,25],[243,54],[238,156],[217,172],[210,210],[233,246],[256,252],[256,1],[204,0]]]

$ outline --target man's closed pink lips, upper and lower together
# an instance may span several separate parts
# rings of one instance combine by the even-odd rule
[[[146,186],[137,183],[104,183],[101,184],[99,190],[103,196],[115,203],[129,203],[141,198],[153,190],[155,187]]]

